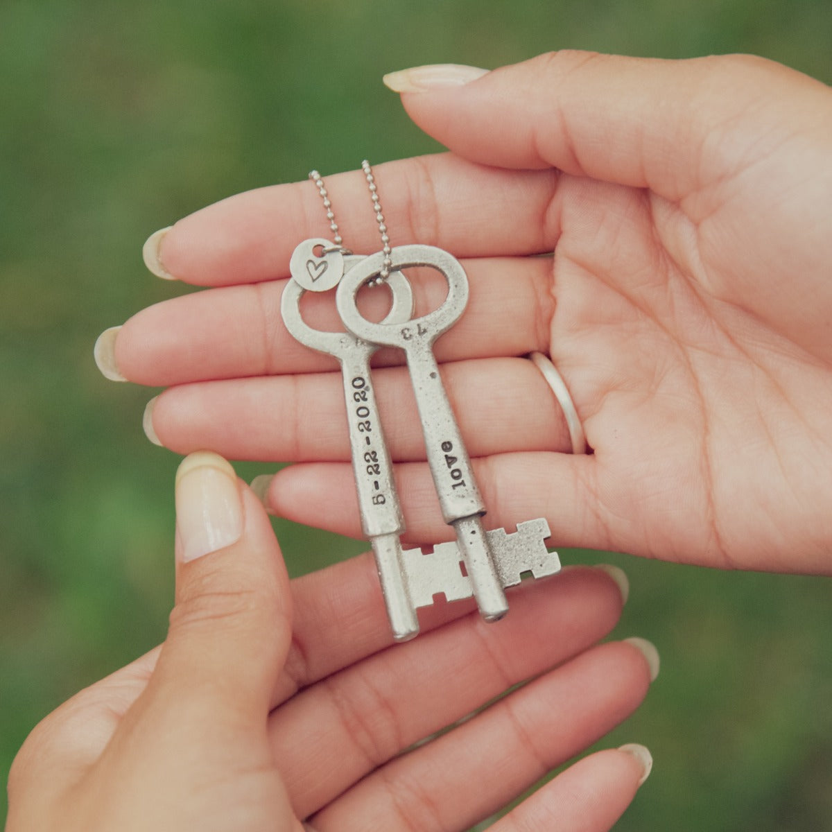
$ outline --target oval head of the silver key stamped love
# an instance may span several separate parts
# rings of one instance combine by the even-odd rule
[[[397,245],[391,252],[391,269],[402,270],[414,266],[436,269],[448,283],[448,297],[433,312],[401,321],[383,320],[379,323],[364,318],[356,305],[359,289],[379,275],[384,266],[384,253],[371,255],[354,265],[338,286],[336,301],[344,326],[357,338],[373,344],[409,349],[416,343],[433,344],[439,335],[455,324],[468,304],[468,276],[460,262],[433,245]],[[392,280],[394,273],[391,273]]]

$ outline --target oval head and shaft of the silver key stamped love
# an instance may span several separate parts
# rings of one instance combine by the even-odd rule
[[[404,349],[443,518],[456,532],[480,612],[487,621],[497,621],[508,612],[508,602],[481,519],[485,505],[433,356],[433,342],[457,322],[468,303],[468,278],[458,260],[432,245],[397,246],[389,256],[392,270],[420,265],[438,270],[448,282],[448,297],[443,305],[406,324],[376,324],[365,319],[355,299],[361,286],[381,271],[384,252],[379,252],[344,275],[336,295],[338,311],[344,326],[356,338]]]

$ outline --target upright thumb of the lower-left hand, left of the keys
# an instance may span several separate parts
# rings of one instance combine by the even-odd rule
[[[176,472],[176,606],[151,686],[262,721],[292,632],[289,578],[260,500],[215,453]]]

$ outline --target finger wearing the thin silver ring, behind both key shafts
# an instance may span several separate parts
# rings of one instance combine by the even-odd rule
[[[440,369],[468,453],[483,456],[570,447],[562,409],[527,359],[483,359]],[[373,386],[395,461],[425,458],[406,368],[376,370]],[[176,453],[215,448],[232,459],[349,462],[341,374],[185,384],[151,400],[151,438]]]

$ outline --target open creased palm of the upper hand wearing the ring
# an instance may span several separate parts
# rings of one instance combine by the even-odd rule
[[[773,570],[795,568],[796,548],[820,568],[832,228],[774,199],[798,152],[675,202],[562,182],[552,357],[595,449],[587,523],[609,530],[607,546]]]

